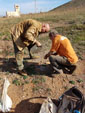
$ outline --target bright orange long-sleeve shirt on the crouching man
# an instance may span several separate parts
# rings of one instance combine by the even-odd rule
[[[73,64],[78,61],[78,57],[69,39],[64,36],[56,35],[56,37],[52,40],[52,47],[50,51],[56,52],[60,56],[67,57],[68,61]]]

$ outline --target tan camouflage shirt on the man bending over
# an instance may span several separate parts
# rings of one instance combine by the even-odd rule
[[[31,42],[35,41],[35,38],[39,35],[39,32],[41,32],[41,29],[42,24],[40,22],[28,19],[14,25],[11,28],[11,35],[18,49],[22,50]]]

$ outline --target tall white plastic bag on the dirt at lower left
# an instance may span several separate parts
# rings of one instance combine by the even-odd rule
[[[10,85],[10,83],[9,83],[8,79],[5,78],[2,95],[0,98],[0,110],[2,112],[8,112],[8,111],[10,111],[10,108],[12,107],[12,100],[7,95],[7,89],[9,87],[9,85]]]

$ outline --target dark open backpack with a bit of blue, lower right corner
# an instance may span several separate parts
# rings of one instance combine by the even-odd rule
[[[60,98],[57,113],[85,113],[85,97],[77,88],[68,89]]]

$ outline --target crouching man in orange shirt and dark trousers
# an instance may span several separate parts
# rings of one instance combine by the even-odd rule
[[[55,31],[51,31],[49,37],[52,41],[52,47],[44,58],[47,59],[49,57],[54,73],[72,73],[76,68],[75,64],[78,61],[78,57],[69,39]]]

